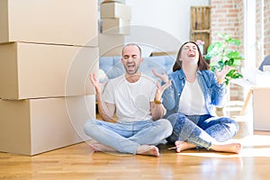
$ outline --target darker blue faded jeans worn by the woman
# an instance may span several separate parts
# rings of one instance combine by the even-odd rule
[[[182,140],[209,149],[213,141],[224,142],[238,132],[238,123],[227,117],[173,113],[167,119],[173,126],[173,134],[166,139],[169,143]]]

